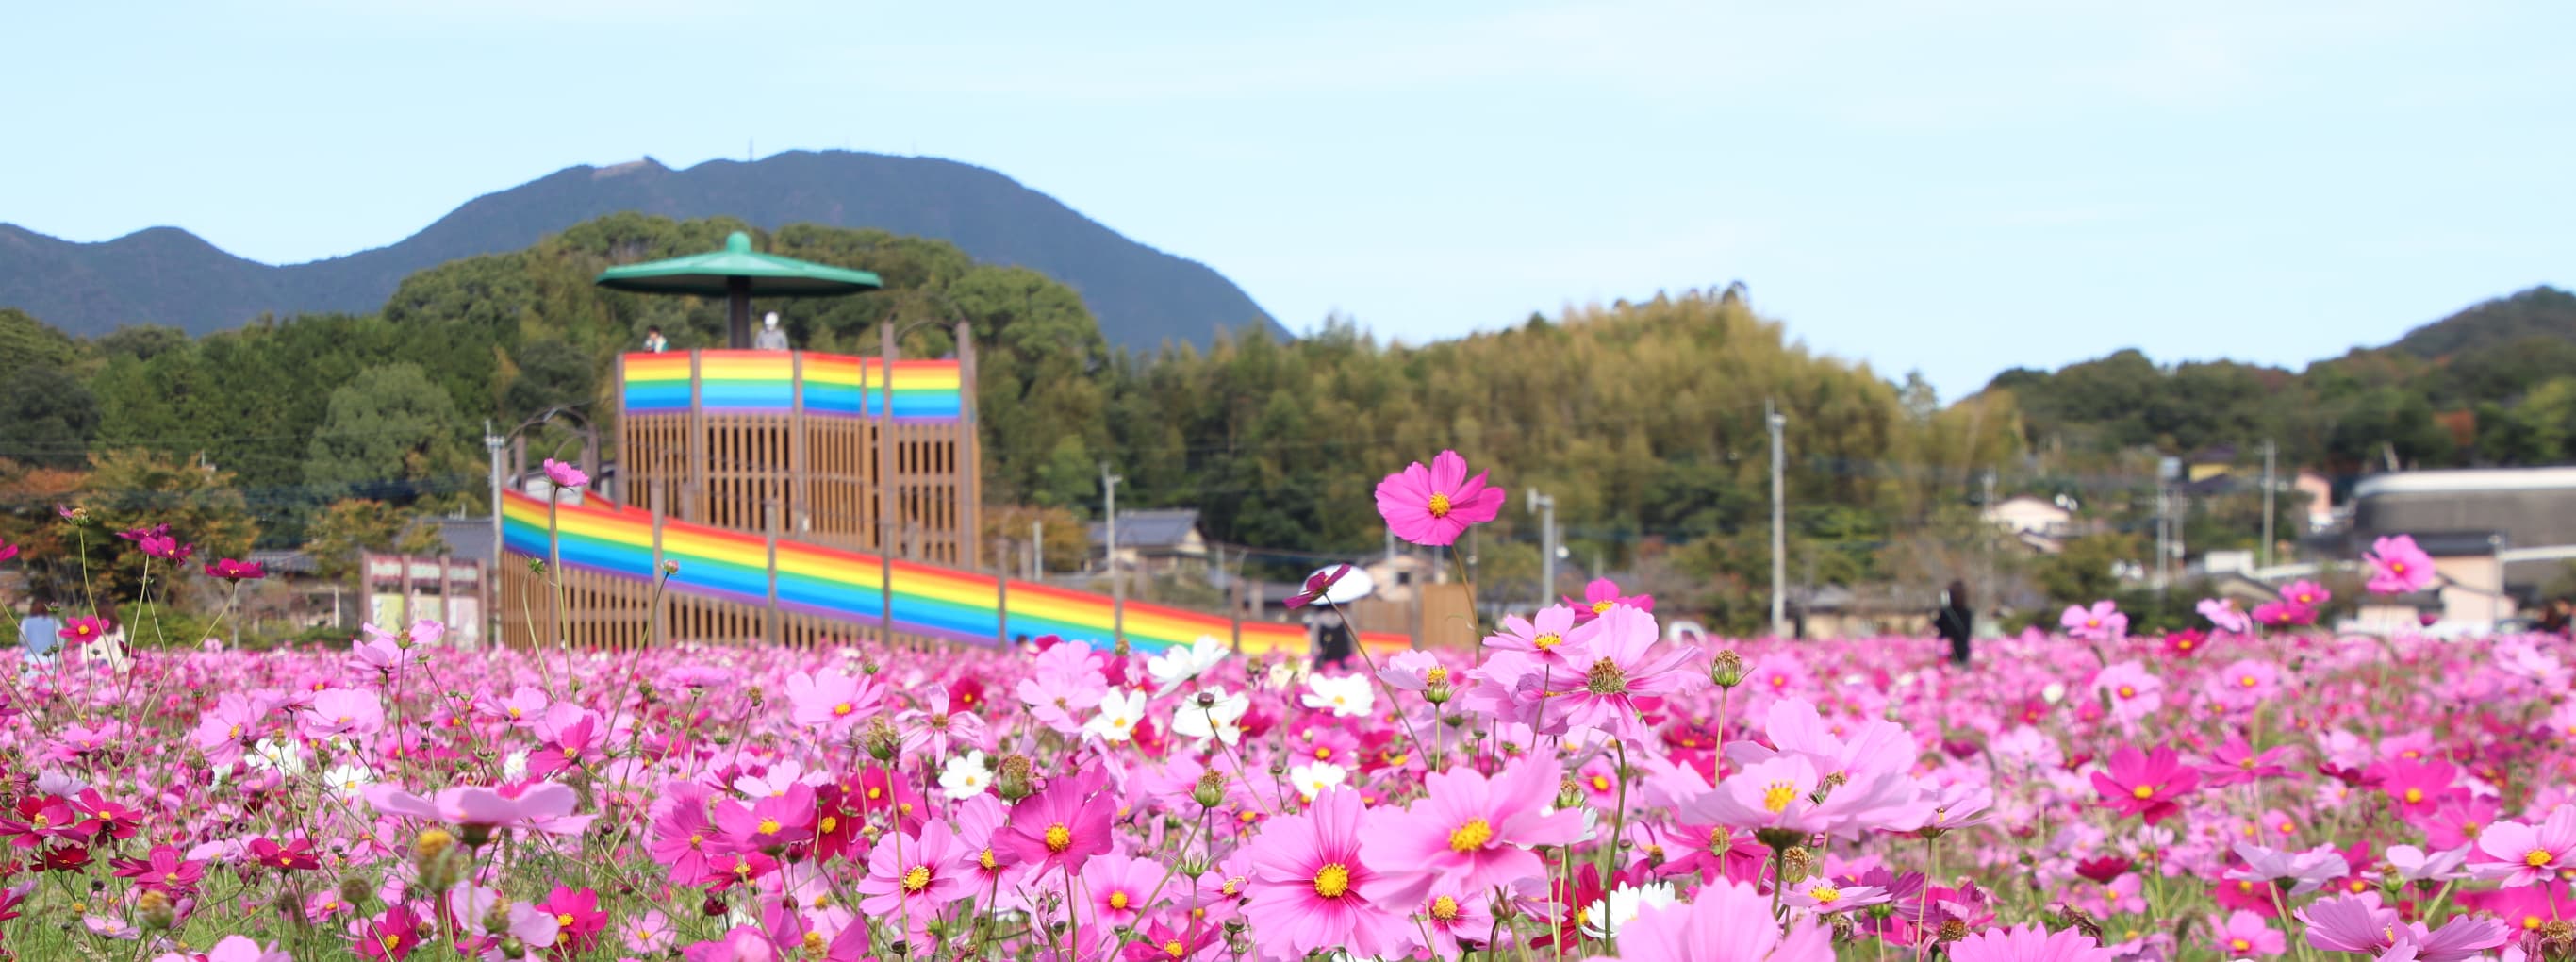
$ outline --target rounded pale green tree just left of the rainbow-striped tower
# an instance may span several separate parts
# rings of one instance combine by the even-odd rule
[[[417,364],[366,369],[330,395],[304,480],[392,503],[461,490],[461,477],[474,475],[461,423],[456,405]]]

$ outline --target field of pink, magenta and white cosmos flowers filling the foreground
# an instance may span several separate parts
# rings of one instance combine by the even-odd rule
[[[1445,459],[1381,487],[1406,539],[1440,544],[1492,500]],[[2367,565],[2388,578],[2406,549]],[[2210,604],[2213,629],[2169,637],[2071,609],[2063,634],[1981,642],[1965,671],[1919,637],[1674,642],[1610,583],[1476,650],[1350,665],[1213,640],[484,653],[428,622],[307,653],[75,655],[5,676],[0,947],[2576,952],[2566,642],[2336,637],[2295,588],[2293,611]]]

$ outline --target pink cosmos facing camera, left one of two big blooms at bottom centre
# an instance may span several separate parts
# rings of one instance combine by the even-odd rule
[[[1314,949],[1358,957],[1396,944],[1404,918],[1370,903],[1363,890],[1378,874],[1360,861],[1365,810],[1352,789],[1327,789],[1298,815],[1273,820],[1252,841],[1252,941],[1275,959],[1303,959]]]

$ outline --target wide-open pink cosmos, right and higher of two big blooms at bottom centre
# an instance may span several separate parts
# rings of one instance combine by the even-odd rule
[[[1564,774],[1556,758],[1512,763],[1492,781],[1466,769],[1430,774],[1430,797],[1381,807],[1360,830],[1386,867],[1368,898],[1396,905],[1422,900],[1435,882],[1484,892],[1543,879],[1548,867],[1530,849],[1564,846],[1584,830],[1582,812],[1540,815]]]

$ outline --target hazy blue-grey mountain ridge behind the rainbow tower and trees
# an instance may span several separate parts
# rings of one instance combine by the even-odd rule
[[[739,217],[770,230],[796,222],[878,227],[948,240],[976,260],[1069,284],[1110,343],[1139,351],[1164,340],[1208,343],[1218,328],[1283,333],[1213,268],[1133,242],[994,170],[840,150],[708,160],[688,170],[652,157],[564,168],[466,201],[389,248],[294,266],[234,258],[175,227],[85,245],[0,224],[0,307],[21,307],[75,335],[139,322],[206,333],[260,312],[374,312],[412,271],[520,250],[616,211]]]

